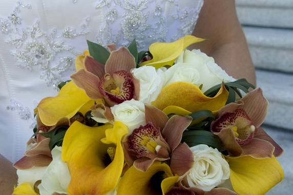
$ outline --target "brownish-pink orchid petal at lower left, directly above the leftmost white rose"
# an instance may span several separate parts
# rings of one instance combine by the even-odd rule
[[[13,166],[17,169],[29,169],[34,166],[48,166],[52,161],[52,157],[47,155],[36,155],[33,157],[24,156],[18,160]]]

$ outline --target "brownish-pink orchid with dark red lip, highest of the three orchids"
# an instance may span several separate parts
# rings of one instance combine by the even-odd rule
[[[91,99],[104,99],[110,106],[139,97],[139,81],[130,73],[136,67],[135,58],[125,47],[114,49],[109,46],[111,54],[106,64],[86,56],[85,69],[71,75]]]

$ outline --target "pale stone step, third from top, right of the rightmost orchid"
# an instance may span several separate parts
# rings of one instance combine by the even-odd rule
[[[257,70],[257,85],[269,101],[265,124],[293,132],[293,75]]]

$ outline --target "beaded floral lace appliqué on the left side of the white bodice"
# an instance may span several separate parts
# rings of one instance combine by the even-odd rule
[[[57,90],[57,84],[62,81],[62,74],[73,71],[73,61],[78,55],[72,46],[66,44],[66,40],[89,33],[90,18],[86,18],[79,31],[66,27],[61,31],[53,29],[51,32],[45,32],[40,29],[39,21],[32,26],[23,27],[22,18],[19,16],[21,9],[32,9],[32,7],[17,2],[12,14],[0,19],[1,32],[8,35],[6,43],[15,48],[11,55],[20,68],[31,71],[39,66],[40,78]]]

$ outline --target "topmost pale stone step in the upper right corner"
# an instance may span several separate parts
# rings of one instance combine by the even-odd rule
[[[293,28],[293,0],[236,0],[241,24]]]

